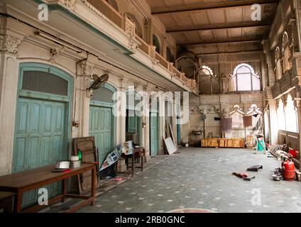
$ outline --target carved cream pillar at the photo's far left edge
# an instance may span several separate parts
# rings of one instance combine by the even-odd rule
[[[1,18],[0,18],[1,20]],[[18,91],[18,48],[23,37],[0,35],[0,175],[11,173]]]

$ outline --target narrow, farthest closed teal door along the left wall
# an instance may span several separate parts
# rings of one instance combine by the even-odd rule
[[[151,113],[151,156],[159,153],[159,119],[158,113]]]

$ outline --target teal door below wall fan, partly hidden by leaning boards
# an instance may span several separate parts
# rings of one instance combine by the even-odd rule
[[[113,149],[113,123],[111,108],[90,106],[89,135],[95,138],[100,164]]]

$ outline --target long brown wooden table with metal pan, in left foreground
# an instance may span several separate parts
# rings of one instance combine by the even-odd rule
[[[24,172],[18,172],[12,175],[6,175],[0,177],[0,192],[13,192],[16,194],[14,199],[14,209],[15,213],[18,212],[35,212],[40,209],[43,209],[43,206],[35,205],[29,209],[21,210],[22,203],[22,194],[24,192],[43,187],[54,182],[62,181],[62,194],[56,196],[53,199],[48,200],[48,204],[53,204],[55,201],[60,199],[64,201],[65,197],[75,198],[75,199],[84,199],[77,206],[72,206],[71,209],[66,212],[75,212],[82,206],[85,206],[89,203],[94,205],[95,202],[95,182],[96,182],[96,165],[95,164],[84,164],[79,168],[71,168],[70,172],[52,172],[55,168],[55,165],[48,165],[45,167],[40,167],[38,169],[26,170]],[[66,179],[82,174],[83,172],[92,171],[92,180],[91,180],[91,195],[82,196],[77,194],[67,194],[66,193]]]

